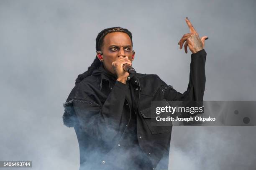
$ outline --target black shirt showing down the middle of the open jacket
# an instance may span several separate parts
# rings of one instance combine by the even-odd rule
[[[100,66],[101,70],[104,69],[103,64]],[[103,71],[103,70],[102,70]],[[106,71],[107,73],[107,71]],[[110,79],[111,77],[115,76],[112,74],[105,74]],[[138,112],[134,112],[137,108],[134,108],[134,99],[132,98],[132,91],[134,90],[132,88],[131,84],[131,78],[133,77],[133,74],[128,76],[128,79],[126,81],[126,85],[128,86],[126,91],[123,91],[125,93],[125,99],[126,102],[125,106],[129,107],[131,109],[131,114],[124,115],[126,119],[126,125],[127,128],[125,129],[125,133],[123,134],[123,140],[120,141],[120,146],[118,147],[118,150],[113,150],[113,155],[116,155],[116,159],[119,161],[118,164],[122,165],[123,170],[151,170],[153,169],[151,161],[148,159],[148,156],[141,150],[141,147],[138,143],[138,137],[137,136],[137,114]],[[116,77],[115,77],[116,79]],[[110,86],[114,86],[115,80],[112,79],[110,82]],[[119,144],[118,144],[119,145]],[[122,159],[123,158],[123,159]]]

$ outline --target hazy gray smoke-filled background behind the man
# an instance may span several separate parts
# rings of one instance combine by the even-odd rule
[[[209,37],[204,99],[256,100],[255,9],[255,0],[0,0],[0,161],[32,160],[33,170],[79,168],[62,104],[95,58],[97,34],[108,27],[133,33],[137,72],[157,74],[184,92],[191,52],[177,43],[189,33],[187,16]],[[255,130],[174,127],[169,169],[251,170]]]

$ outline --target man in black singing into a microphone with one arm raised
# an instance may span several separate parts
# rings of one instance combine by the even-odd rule
[[[205,90],[207,37],[200,39],[188,18],[186,22],[190,33],[178,44],[193,54],[183,94],[157,75],[123,69],[135,58],[130,31],[113,27],[98,34],[97,56],[64,104],[64,124],[74,127],[79,142],[80,170],[154,170],[163,157],[168,160],[172,127],[151,125],[151,101],[202,101]],[[168,161],[162,162],[158,167],[168,169]]]

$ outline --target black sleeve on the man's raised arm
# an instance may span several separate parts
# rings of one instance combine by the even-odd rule
[[[204,49],[191,54],[187,91],[182,94],[173,89],[172,86],[168,86],[164,83],[165,85],[162,87],[164,98],[169,101],[203,101],[205,91],[205,60],[206,52]]]

